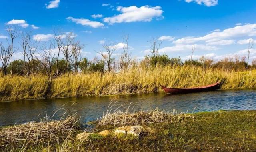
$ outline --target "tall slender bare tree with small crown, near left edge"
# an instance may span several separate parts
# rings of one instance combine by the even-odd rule
[[[6,31],[7,31],[8,35],[10,36],[10,38],[11,38],[10,56],[11,56],[11,76],[12,76],[12,55],[13,55],[13,53],[14,53],[14,50],[13,50],[13,41],[14,41],[15,38],[17,38],[17,37],[19,36],[19,32],[17,31],[16,26],[7,26],[7,27],[6,27]]]

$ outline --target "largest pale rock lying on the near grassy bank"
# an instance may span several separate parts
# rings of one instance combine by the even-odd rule
[[[116,128],[115,134],[132,134],[134,136],[139,136],[142,132],[142,126],[124,126]]]

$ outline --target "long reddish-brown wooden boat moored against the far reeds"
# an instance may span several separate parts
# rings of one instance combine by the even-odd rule
[[[195,87],[195,88],[167,88],[162,85],[160,85],[160,86],[162,87],[162,89],[164,89],[164,91],[166,93],[180,94],[180,93],[212,91],[212,90],[220,89],[221,84],[222,84],[221,82],[217,82],[217,83],[210,84],[207,86],[200,86],[200,87]]]

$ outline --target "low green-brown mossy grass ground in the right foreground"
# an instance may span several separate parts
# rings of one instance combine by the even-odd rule
[[[182,122],[147,124],[139,138],[92,134],[89,140],[28,147],[37,151],[256,151],[256,110],[194,114]],[[114,126],[95,128],[114,130]]]

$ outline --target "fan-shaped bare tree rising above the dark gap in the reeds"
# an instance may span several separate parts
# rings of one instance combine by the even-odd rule
[[[54,63],[55,46],[53,43],[51,43],[49,46],[47,46],[45,43],[40,47],[40,50],[41,52],[38,52],[42,58],[40,62],[44,66],[50,81],[52,81],[52,65]]]

